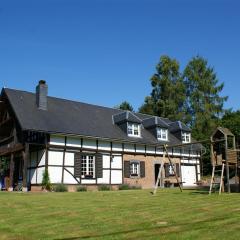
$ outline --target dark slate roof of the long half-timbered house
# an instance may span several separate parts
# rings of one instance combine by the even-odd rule
[[[141,137],[128,137],[121,128],[113,123],[113,115],[128,114],[128,118],[145,120],[150,115],[130,113],[119,109],[91,105],[66,99],[48,97],[47,110],[36,106],[35,94],[26,91],[4,88],[9,102],[23,130],[42,131],[47,133],[72,134],[97,137],[149,145],[164,144],[159,142],[145,128]],[[169,119],[157,117],[157,122],[169,125]],[[181,141],[169,133],[169,144],[180,144]]]

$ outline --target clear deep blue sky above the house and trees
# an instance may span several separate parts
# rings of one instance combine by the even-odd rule
[[[41,0],[0,3],[0,84],[104,106],[150,94],[161,55],[208,59],[225,107],[240,103],[240,1]]]

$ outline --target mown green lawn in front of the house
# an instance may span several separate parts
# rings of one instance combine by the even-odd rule
[[[0,192],[0,239],[239,239],[240,194]]]

